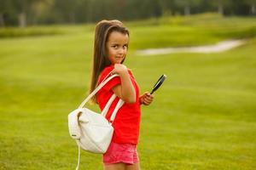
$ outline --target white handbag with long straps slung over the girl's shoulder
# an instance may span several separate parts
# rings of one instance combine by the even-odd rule
[[[111,73],[108,74],[108,76]],[[76,142],[79,146],[79,159],[76,169],[79,169],[80,161],[80,148],[83,150],[90,151],[92,153],[105,153],[108,150],[108,145],[111,142],[113,136],[113,127],[112,123],[119,111],[119,108],[124,104],[122,99],[119,99],[113,113],[110,117],[110,121],[105,118],[108,113],[110,105],[113,103],[113,100],[116,98],[116,95],[113,94],[108,100],[107,105],[105,105],[102,110],[102,114],[90,111],[87,108],[84,108],[84,105],[113,77],[118,77],[118,75],[112,75],[111,77],[106,77],[97,88],[79,105],[79,108],[72,111],[68,115],[68,129],[70,136],[73,139],[76,139]]]

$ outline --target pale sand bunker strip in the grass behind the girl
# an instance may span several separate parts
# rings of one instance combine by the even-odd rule
[[[194,47],[183,47],[183,48],[148,48],[143,50],[137,50],[139,55],[155,55],[155,54],[175,54],[175,53],[219,53],[227,51],[231,48],[241,46],[246,41],[244,40],[232,40],[218,42],[214,45],[206,46],[194,46]]]

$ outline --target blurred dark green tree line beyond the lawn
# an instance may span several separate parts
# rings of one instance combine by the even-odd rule
[[[0,0],[0,26],[139,20],[213,10],[255,15],[255,6],[256,0]]]

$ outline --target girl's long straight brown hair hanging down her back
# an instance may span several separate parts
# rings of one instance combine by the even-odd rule
[[[103,69],[111,65],[108,59],[106,43],[108,42],[109,34],[113,31],[119,31],[129,36],[128,29],[119,20],[102,20],[96,25],[90,93],[96,88],[98,77]],[[92,98],[92,102],[96,103],[96,96]]]

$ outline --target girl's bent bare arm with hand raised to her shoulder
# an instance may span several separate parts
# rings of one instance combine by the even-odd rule
[[[125,101],[125,103],[135,103],[136,102],[136,93],[132,85],[129,73],[125,65],[115,64],[113,73],[119,74],[121,79],[121,84],[112,88],[113,93]]]

